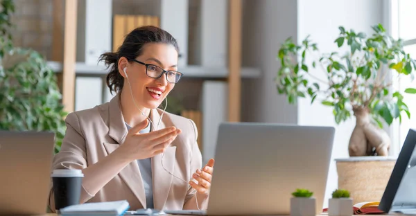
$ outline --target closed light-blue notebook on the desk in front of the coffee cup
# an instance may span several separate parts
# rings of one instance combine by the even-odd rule
[[[105,215],[105,216],[119,216],[123,215],[130,204],[127,200],[121,201],[105,201],[96,203],[87,203],[68,206],[60,209],[62,216],[80,216],[80,215]]]

